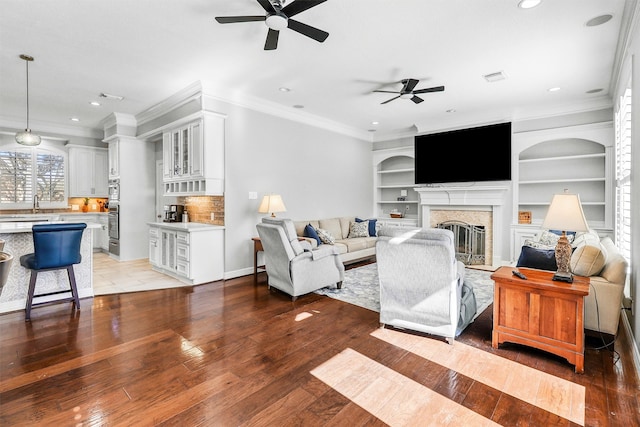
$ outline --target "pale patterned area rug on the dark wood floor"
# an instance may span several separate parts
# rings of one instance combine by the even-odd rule
[[[465,282],[473,287],[478,306],[474,319],[493,302],[493,280],[490,276],[490,271],[465,269]],[[316,293],[380,312],[380,285],[377,265],[368,264],[347,270],[344,272],[342,289],[331,286],[318,289]]]

